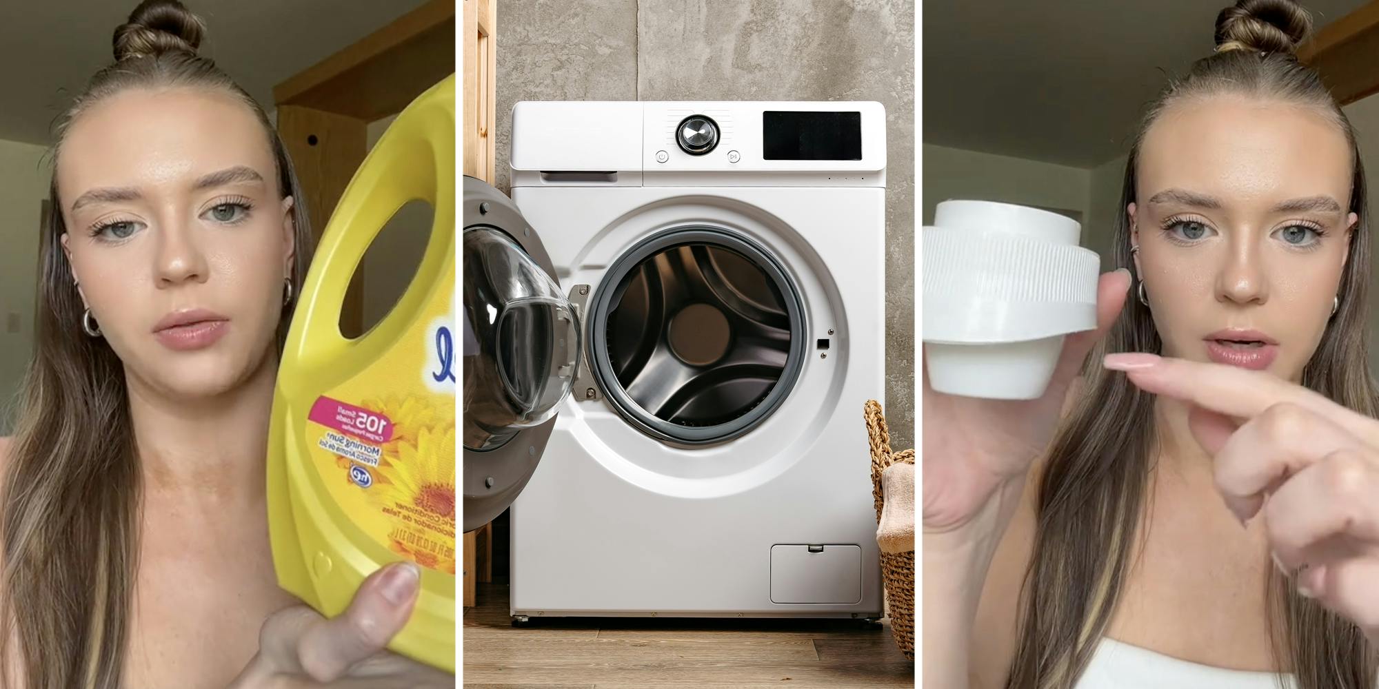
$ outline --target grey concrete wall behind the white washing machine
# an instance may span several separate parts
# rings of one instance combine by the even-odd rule
[[[496,50],[499,187],[517,101],[885,105],[885,412],[914,445],[913,0],[498,0]]]

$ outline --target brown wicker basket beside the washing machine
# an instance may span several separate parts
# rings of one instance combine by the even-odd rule
[[[876,503],[876,521],[880,524],[881,471],[899,462],[913,464],[914,451],[891,452],[891,434],[885,429],[880,402],[867,400],[863,416],[872,445],[872,499]],[[885,606],[895,645],[905,657],[914,660],[914,551],[881,553],[881,582],[885,584]]]

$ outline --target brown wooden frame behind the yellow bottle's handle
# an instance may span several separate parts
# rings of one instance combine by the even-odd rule
[[[345,186],[368,153],[368,123],[396,114],[455,73],[455,0],[430,0],[273,87],[277,131],[292,157],[320,241]],[[363,265],[345,295],[341,327],[364,324]]]

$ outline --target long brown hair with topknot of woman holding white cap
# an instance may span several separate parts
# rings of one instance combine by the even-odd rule
[[[1365,174],[1354,130],[1317,74],[1291,54],[1310,19],[1284,0],[1242,0],[1220,12],[1216,43],[1225,50],[1171,83],[1143,119],[1125,163],[1113,256],[1134,270],[1127,208],[1136,201],[1136,164],[1145,132],[1168,107],[1222,95],[1307,106],[1331,117],[1350,143],[1350,211],[1358,225],[1340,278],[1340,307],[1303,371],[1303,384],[1360,413],[1375,416],[1365,322],[1371,237]],[[1142,517],[1151,507],[1149,477],[1157,451],[1154,397],[1123,375],[1103,371],[1111,351],[1161,353],[1147,306],[1134,295],[1107,338],[1088,356],[1083,394],[1056,434],[1038,481],[1037,535],[1020,591],[1016,650],[1005,686],[1071,689],[1106,633],[1143,544]],[[1375,650],[1349,620],[1302,598],[1269,568],[1265,591],[1269,635],[1280,666],[1300,689],[1372,689]]]

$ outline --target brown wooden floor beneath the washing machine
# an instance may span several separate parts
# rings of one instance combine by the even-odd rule
[[[473,689],[914,686],[888,621],[789,619],[536,619],[512,627],[505,580],[465,610]]]

